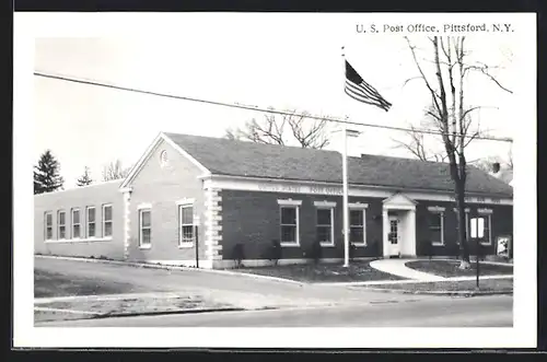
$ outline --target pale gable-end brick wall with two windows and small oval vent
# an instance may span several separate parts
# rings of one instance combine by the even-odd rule
[[[160,154],[167,152],[168,163],[162,166]],[[132,180],[129,201],[128,257],[132,260],[191,261],[196,259],[195,245],[178,246],[178,207],[181,199],[194,199],[194,213],[203,224],[205,197],[202,182],[197,177],[202,172],[165,141],[155,148]],[[139,205],[151,205],[151,248],[139,247]],[[199,229],[199,259],[205,262],[205,232]],[[188,264],[188,262],[186,262]],[[201,265],[200,265],[201,267]]]

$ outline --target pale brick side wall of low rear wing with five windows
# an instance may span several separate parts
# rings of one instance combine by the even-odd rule
[[[123,259],[124,257],[124,205],[123,195],[118,191],[121,180],[79,187],[63,191],[36,195],[34,197],[34,252],[46,255],[108,257]],[[112,238],[102,238],[103,235],[103,205],[109,203],[113,209]],[[95,207],[95,238],[86,238],[86,208]],[[80,209],[80,240],[73,240],[71,233],[71,210]],[[59,240],[58,211],[66,212],[66,240]],[[53,240],[45,241],[45,213],[51,212]]]

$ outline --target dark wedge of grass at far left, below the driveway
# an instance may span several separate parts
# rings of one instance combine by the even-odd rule
[[[78,278],[45,270],[34,270],[34,297],[96,295],[135,292],[129,283],[105,283],[92,278]]]

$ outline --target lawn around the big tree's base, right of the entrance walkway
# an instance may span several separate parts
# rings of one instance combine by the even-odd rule
[[[406,264],[408,268],[429,272],[439,277],[452,278],[452,277],[474,277],[477,275],[476,264],[472,262],[472,268],[467,270],[461,270],[459,260],[417,260],[409,261]],[[512,275],[512,266],[500,266],[492,264],[479,265],[480,276],[494,276],[494,275]]]

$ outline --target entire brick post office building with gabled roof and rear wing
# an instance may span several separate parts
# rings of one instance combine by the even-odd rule
[[[447,164],[362,155],[348,159],[348,178],[354,257],[453,253]],[[237,244],[245,265],[270,264],[277,240],[281,264],[305,260],[314,243],[341,259],[341,182],[335,151],[160,133],[126,179],[35,196],[35,252],[223,268]],[[484,225],[470,245],[494,254],[512,237],[512,195],[469,167],[467,232]]]

